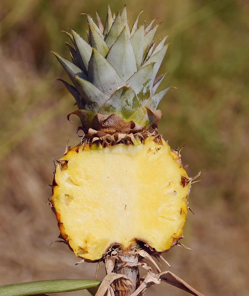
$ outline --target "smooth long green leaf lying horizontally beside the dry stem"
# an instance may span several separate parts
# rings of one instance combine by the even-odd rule
[[[1,296],[25,296],[44,293],[72,292],[100,285],[100,281],[88,279],[55,279],[0,286]]]

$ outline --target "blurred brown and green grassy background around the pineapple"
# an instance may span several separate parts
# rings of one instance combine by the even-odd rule
[[[171,271],[204,295],[243,296],[249,291],[249,2],[248,0],[1,0],[0,1],[0,285],[64,278],[94,279],[96,264],[82,263],[64,244],[46,205],[53,159],[67,141],[78,144],[66,115],[74,99],[51,50],[69,59],[61,30],[86,37],[86,17],[105,22],[107,4],[127,4],[130,28],[163,22],[156,38],[171,33],[160,89],[176,86],[159,108],[159,131],[172,148],[183,146],[193,184],[181,242],[164,258]],[[167,266],[163,265],[162,270]],[[104,277],[101,265],[98,279]],[[54,295],[54,294],[53,294]],[[59,294],[58,294],[59,295]],[[61,294],[62,295],[62,294]],[[70,295],[88,295],[72,292]],[[146,295],[189,295],[162,283]]]

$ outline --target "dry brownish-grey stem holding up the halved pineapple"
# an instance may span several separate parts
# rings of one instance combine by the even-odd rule
[[[113,271],[125,276],[114,281],[114,295],[131,295],[139,281],[138,255],[135,254],[135,250],[120,253],[115,260]]]

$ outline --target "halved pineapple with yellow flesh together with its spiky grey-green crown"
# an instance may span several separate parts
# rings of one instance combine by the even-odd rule
[[[84,136],[57,160],[50,204],[60,237],[77,257],[135,258],[131,294],[143,251],[160,256],[183,237],[193,178],[157,132],[157,106],[172,88],[156,93],[166,75],[156,76],[167,36],[156,45],[159,25],[138,27],[138,18],[130,30],[126,7],[116,17],[108,7],[105,25],[98,14],[97,25],[86,17],[89,43],[71,30],[72,45],[66,44],[72,62],[54,53],[72,84],[60,80],[78,107],[68,119],[80,118]],[[112,270],[125,273],[115,264]]]

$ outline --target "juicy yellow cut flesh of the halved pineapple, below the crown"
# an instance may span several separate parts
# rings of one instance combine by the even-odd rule
[[[162,252],[182,236],[190,183],[162,141],[79,147],[61,158],[50,201],[76,256],[98,260],[111,245],[129,250],[138,241]]]

